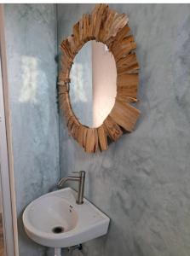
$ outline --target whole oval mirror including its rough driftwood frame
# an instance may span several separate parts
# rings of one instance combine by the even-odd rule
[[[86,153],[107,150],[140,116],[131,105],[138,101],[139,64],[128,21],[97,4],[60,44],[60,109],[68,134]]]

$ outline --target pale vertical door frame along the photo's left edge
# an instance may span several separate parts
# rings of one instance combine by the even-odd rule
[[[0,4],[0,167],[3,197],[4,246],[6,256],[19,256],[3,15],[3,4]]]

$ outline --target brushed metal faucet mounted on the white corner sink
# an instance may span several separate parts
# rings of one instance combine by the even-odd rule
[[[60,178],[59,183],[57,184],[58,189],[61,189],[63,187],[63,184],[66,183],[66,181],[77,181],[78,182],[78,199],[77,204],[82,205],[83,204],[83,189],[84,189],[84,181],[85,181],[85,172],[79,171],[74,172],[78,173],[78,176],[68,176],[68,177],[62,177]]]

